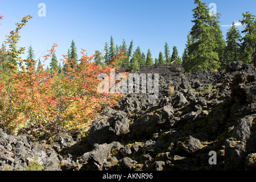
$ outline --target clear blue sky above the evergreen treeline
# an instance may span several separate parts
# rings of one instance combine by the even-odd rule
[[[222,14],[220,25],[224,37],[228,25],[241,20],[242,13],[250,11],[256,15],[256,0],[203,2],[216,4],[217,13]],[[46,16],[38,15],[39,3],[46,5]],[[195,7],[193,0],[0,0],[0,14],[4,16],[0,20],[0,43],[20,18],[31,15],[33,18],[20,32],[18,46],[26,47],[23,58],[30,44],[38,59],[52,43],[57,43],[56,55],[60,60],[67,54],[72,39],[79,57],[81,48],[92,55],[96,50],[101,51],[105,42],[110,42],[111,35],[115,44],[120,45],[125,39],[128,47],[133,39],[134,51],[140,46],[146,54],[150,48],[154,59],[159,51],[164,51],[165,42],[171,53],[172,46],[176,46],[181,56],[193,25]],[[49,60],[44,64],[49,64]]]

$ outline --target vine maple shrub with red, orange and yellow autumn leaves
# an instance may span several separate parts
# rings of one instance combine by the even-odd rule
[[[16,31],[11,31],[5,42],[9,50],[0,55],[0,59],[5,60],[2,64],[6,65],[0,72],[1,127],[7,133],[16,133],[23,128],[51,133],[85,129],[103,106],[113,106],[122,97],[118,93],[97,92],[100,82],[97,76],[100,73],[109,75],[110,69],[118,69],[125,57],[119,52],[108,66],[101,66],[91,63],[95,55],[87,56],[82,49],[77,65],[64,55],[65,73],[58,72],[61,68],[52,71],[51,75],[46,69],[35,69],[35,60],[20,59],[24,48],[16,49],[18,32],[30,18],[25,16],[22,23],[16,23]],[[51,57],[56,47],[54,43],[44,61]]]

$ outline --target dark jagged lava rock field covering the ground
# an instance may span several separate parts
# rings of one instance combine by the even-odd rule
[[[12,136],[0,129],[0,169],[255,170],[256,68],[230,63],[222,72],[159,73],[159,97],[128,94],[106,107],[86,133]],[[210,151],[216,164],[209,164]],[[212,154],[212,153],[210,153]]]

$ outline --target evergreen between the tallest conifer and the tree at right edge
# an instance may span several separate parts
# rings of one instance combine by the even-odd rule
[[[226,43],[227,46],[225,48],[225,63],[222,67],[225,67],[226,64],[232,61],[239,61],[239,51],[240,51],[240,40],[241,35],[238,28],[235,26],[234,22],[232,23],[232,27],[229,28],[228,32],[226,33]]]

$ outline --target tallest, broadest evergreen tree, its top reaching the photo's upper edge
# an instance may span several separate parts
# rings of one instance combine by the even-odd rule
[[[209,9],[205,3],[195,0],[197,4],[193,9],[193,27],[191,28],[191,42],[187,47],[186,72],[203,69],[218,69],[220,67],[218,52],[216,49],[216,26],[213,26],[213,18],[209,15]]]

